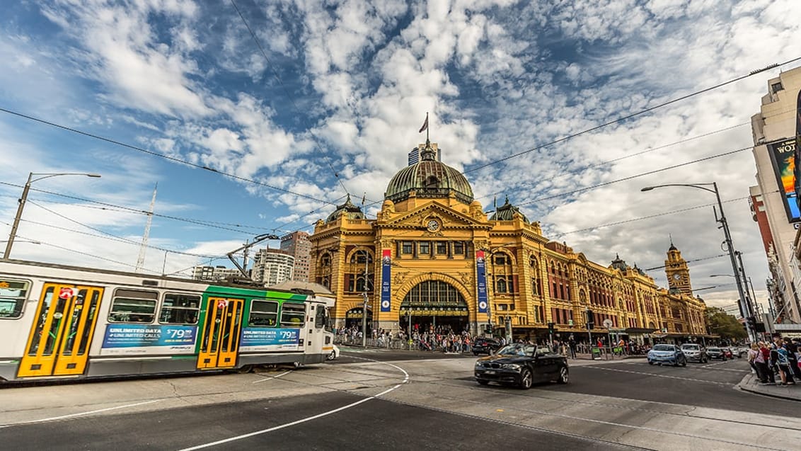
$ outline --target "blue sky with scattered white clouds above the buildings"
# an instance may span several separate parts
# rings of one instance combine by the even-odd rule
[[[718,183],[763,301],[750,118],[801,60],[690,94],[801,57],[799,17],[797,0],[5,2],[0,236],[29,173],[93,173],[34,175],[12,258],[132,270],[157,187],[143,272],[231,267],[348,194],[374,218],[429,113],[485,211],[508,196],[601,264],[660,267],[672,239],[726,306],[714,195],[640,191]]]

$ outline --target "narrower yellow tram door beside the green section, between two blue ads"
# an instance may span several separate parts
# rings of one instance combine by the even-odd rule
[[[235,367],[243,304],[241,299],[208,298],[206,322],[200,337],[199,369]]]

